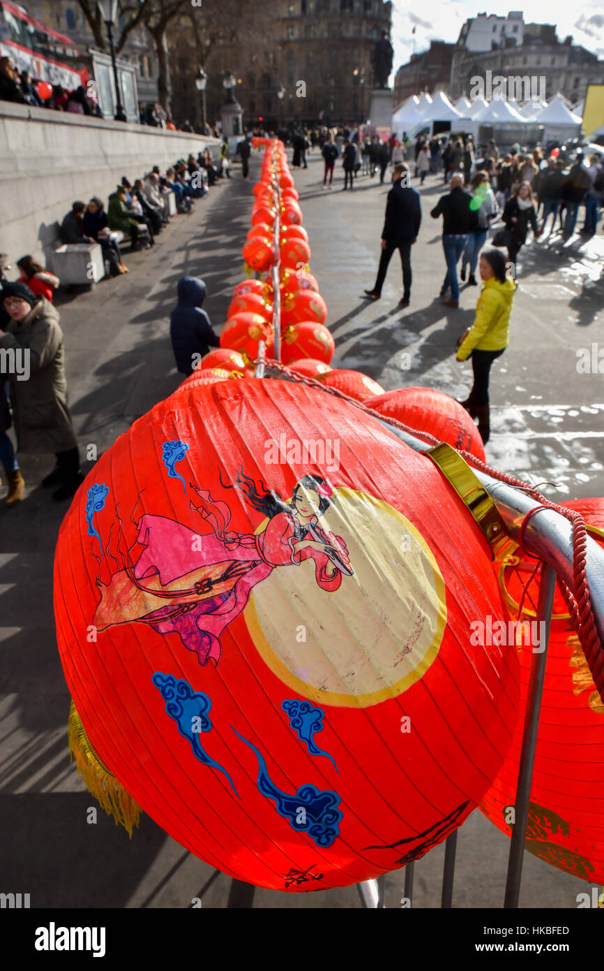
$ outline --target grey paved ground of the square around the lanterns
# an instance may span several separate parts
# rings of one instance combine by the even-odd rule
[[[257,164],[257,163],[255,163]],[[471,322],[475,288],[448,310],[436,294],[444,276],[440,224],[429,209],[442,191],[422,189],[424,224],[413,251],[412,304],[397,311],[400,271],[393,260],[382,300],[361,299],[373,284],[387,186],[360,179],[324,192],[320,162],[310,154],[296,173],[311,269],[329,308],[336,363],[358,367],[385,388],[431,385],[460,395],[470,369],[454,357]],[[254,170],[252,170],[253,172]],[[341,169],[338,172],[338,180]],[[133,419],[178,384],[168,333],[175,285],[183,273],[203,276],[207,310],[224,321],[241,279],[240,248],[249,226],[252,184],[239,175],[216,187],[190,217],[177,217],[155,251],[127,257],[127,278],[60,301],[68,379],[82,450],[103,452]],[[577,371],[577,351],[604,348],[602,237],[562,244],[553,237],[521,253],[512,344],[495,362],[493,438],[488,458],[533,481],[559,484],[553,497],[604,493],[604,394],[598,373]],[[596,348],[596,352],[597,352]],[[399,366],[411,355],[410,370]],[[604,356],[604,353],[603,353]],[[604,364],[602,364],[604,370]],[[92,453],[94,450],[90,450]],[[70,766],[66,741],[69,693],[52,622],[52,553],[64,507],[37,486],[50,458],[25,458],[27,502],[0,507],[0,848],[1,890],[31,893],[36,906],[244,906],[249,888],[234,884],[185,852],[147,817],[132,842],[103,813],[86,824],[93,800]],[[460,831],[454,905],[500,907],[508,840],[476,812]],[[415,867],[414,906],[438,907],[443,848]],[[529,854],[521,906],[576,907],[588,887]],[[398,907],[403,873],[386,882],[386,904]],[[255,907],[358,907],[354,887],[313,894],[256,890]]]

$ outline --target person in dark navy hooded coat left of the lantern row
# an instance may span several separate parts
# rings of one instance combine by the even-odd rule
[[[197,277],[178,281],[178,304],[170,318],[170,336],[176,368],[181,374],[193,374],[210,348],[220,347],[207,313],[202,310],[206,284]]]

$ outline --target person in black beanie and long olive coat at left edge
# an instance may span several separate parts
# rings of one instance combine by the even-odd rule
[[[56,485],[52,498],[69,499],[83,482],[76,433],[67,407],[63,331],[55,307],[25,284],[1,291],[10,320],[0,330],[0,350],[9,352],[17,452],[54,452],[56,467],[43,479]],[[10,352],[13,354],[10,354]],[[11,366],[12,364],[12,366]]]

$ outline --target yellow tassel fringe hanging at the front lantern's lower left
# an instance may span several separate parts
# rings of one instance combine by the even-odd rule
[[[73,701],[69,709],[67,738],[72,758],[76,758],[79,777],[83,779],[88,792],[107,815],[113,817],[115,825],[120,823],[132,839],[132,829],[139,825],[141,807],[111,775],[90,745]]]

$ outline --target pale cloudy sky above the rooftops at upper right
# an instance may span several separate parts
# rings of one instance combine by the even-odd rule
[[[604,3],[602,0],[577,0],[561,3],[560,0],[524,0],[507,9],[491,0],[394,0],[393,45],[395,48],[394,70],[405,64],[412,53],[429,49],[430,41],[457,41],[461,25],[468,17],[477,14],[504,16],[508,10],[522,10],[525,23],[555,23],[558,40],[572,34],[573,43],[581,44],[604,57]],[[418,13],[419,12],[419,13]],[[411,31],[415,25],[415,34]]]

